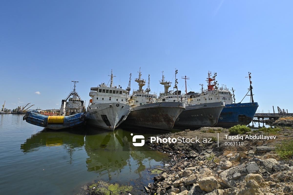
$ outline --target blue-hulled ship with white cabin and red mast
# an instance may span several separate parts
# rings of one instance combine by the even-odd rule
[[[253,100],[253,93],[251,86],[251,73],[248,73],[248,78],[250,81],[250,88],[247,92],[250,93],[250,102],[249,103],[235,103],[234,89],[232,92],[226,87],[218,87],[217,81],[215,80],[217,73],[208,72],[207,78],[207,89],[204,90],[202,87],[201,93],[188,93],[188,104],[202,104],[202,103],[211,103],[211,102],[225,102],[225,107],[223,108],[218,123],[216,127],[229,128],[234,125],[248,125],[255,115],[255,112],[258,108],[258,103]],[[201,86],[203,86],[201,84]],[[243,98],[244,99],[244,98]],[[243,100],[242,99],[242,100]]]

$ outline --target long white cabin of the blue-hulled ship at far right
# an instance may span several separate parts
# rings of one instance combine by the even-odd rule
[[[212,102],[225,102],[225,104],[232,103],[232,95],[229,89],[220,87],[211,91],[205,90],[201,93],[193,93],[188,96],[188,105],[212,103]]]

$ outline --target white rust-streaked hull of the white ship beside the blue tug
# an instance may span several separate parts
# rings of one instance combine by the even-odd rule
[[[124,103],[100,103],[88,106],[86,124],[105,130],[115,130],[130,113],[130,106]]]

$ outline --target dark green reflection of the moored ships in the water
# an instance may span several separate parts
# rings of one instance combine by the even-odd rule
[[[30,153],[42,149],[43,146],[53,149],[63,148],[68,153],[66,163],[75,165],[75,161],[85,161],[86,170],[95,173],[96,177],[93,180],[103,179],[121,183],[140,179],[147,184],[151,178],[147,169],[162,165],[168,158],[157,151],[149,150],[147,146],[142,146],[144,151],[137,151],[138,148],[128,141],[132,139],[131,132],[126,130],[117,129],[113,132],[96,130],[92,127],[84,128],[84,130],[63,132],[44,129],[21,144],[21,150]],[[157,134],[158,130],[147,132],[148,134],[143,134],[145,137]],[[128,151],[125,151],[125,148]],[[86,155],[76,156],[75,153],[79,150],[84,150]],[[82,156],[86,158],[82,159]],[[64,163],[64,161],[55,163]],[[91,179],[84,181],[87,182],[91,182]]]

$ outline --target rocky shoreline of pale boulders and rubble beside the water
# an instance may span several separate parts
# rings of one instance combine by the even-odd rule
[[[219,133],[219,146],[214,138]],[[171,160],[145,190],[152,195],[277,195],[293,194],[293,161],[282,159],[275,147],[292,140],[292,130],[283,129],[274,140],[247,139],[245,135],[268,135],[247,132],[238,146],[227,146],[227,129],[201,128],[157,135],[165,137],[210,137],[212,143],[150,143],[151,149],[169,153]],[[270,135],[270,134],[269,134]]]

